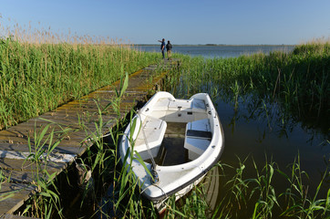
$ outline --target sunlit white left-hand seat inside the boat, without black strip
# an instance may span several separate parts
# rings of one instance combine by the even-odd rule
[[[167,123],[164,120],[147,118],[145,122],[143,122],[134,146],[134,151],[139,152],[139,155],[143,161],[150,159],[146,141],[148,142],[152,156],[156,157],[158,151],[160,151],[161,141],[164,138],[166,128]],[[147,137],[147,140],[144,138],[142,129]]]

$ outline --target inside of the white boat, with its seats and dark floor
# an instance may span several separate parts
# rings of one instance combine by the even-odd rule
[[[152,156],[161,166],[197,159],[211,141],[208,107],[201,99],[160,99],[152,111],[141,112],[146,117],[134,150],[143,161]]]

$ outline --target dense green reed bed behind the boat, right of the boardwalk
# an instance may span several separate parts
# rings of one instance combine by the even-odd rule
[[[179,96],[190,97],[199,90],[218,94],[223,90],[236,97],[253,93],[260,99],[277,102],[305,126],[328,131],[329,41],[296,46],[291,53],[213,59],[182,57],[182,60],[180,88],[177,85],[171,89]]]

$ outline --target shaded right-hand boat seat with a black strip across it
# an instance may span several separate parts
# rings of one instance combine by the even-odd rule
[[[187,123],[184,148],[188,150],[190,160],[197,159],[210,145],[211,127],[208,119]]]

